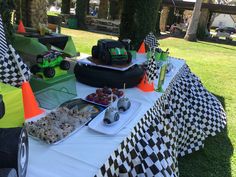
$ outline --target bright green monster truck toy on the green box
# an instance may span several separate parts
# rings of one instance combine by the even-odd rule
[[[62,53],[51,50],[43,55],[38,55],[36,59],[37,64],[31,67],[31,72],[37,74],[38,72],[43,72],[44,76],[47,78],[52,78],[55,76],[54,67],[60,66],[62,70],[70,69],[70,62],[64,60]]]

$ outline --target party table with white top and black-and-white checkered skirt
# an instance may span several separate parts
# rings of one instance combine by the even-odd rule
[[[225,127],[226,116],[184,60],[170,62],[164,93],[126,89],[141,107],[116,135],[85,126],[57,145],[30,138],[27,177],[178,176],[177,157],[202,148]],[[96,90],[76,87],[81,98]]]

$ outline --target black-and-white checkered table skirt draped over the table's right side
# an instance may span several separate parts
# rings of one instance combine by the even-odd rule
[[[226,125],[220,102],[185,65],[96,176],[179,176],[178,156]]]

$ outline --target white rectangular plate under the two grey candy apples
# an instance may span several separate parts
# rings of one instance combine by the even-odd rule
[[[131,107],[126,112],[120,113],[119,121],[112,123],[110,125],[106,125],[103,122],[103,118],[105,115],[105,111],[101,112],[96,118],[94,118],[89,124],[88,127],[96,132],[103,133],[106,135],[116,135],[119,131],[127,125],[135,114],[138,113],[138,110],[141,106],[141,103],[136,100],[130,100]],[[116,102],[112,105],[116,105]]]

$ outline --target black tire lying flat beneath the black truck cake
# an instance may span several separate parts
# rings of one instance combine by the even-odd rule
[[[111,87],[126,88],[137,86],[143,75],[144,70],[141,66],[134,65],[126,71],[117,71],[107,68],[101,68],[77,63],[74,68],[76,79],[92,87]]]

